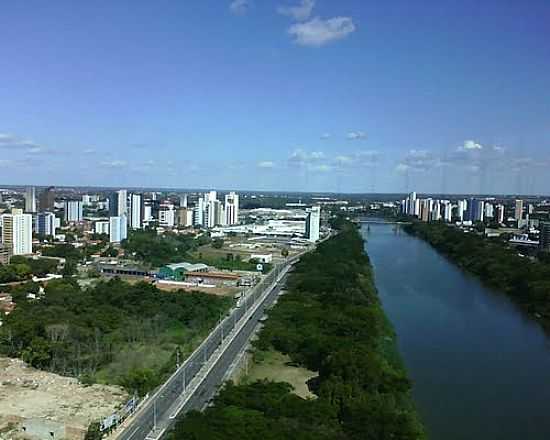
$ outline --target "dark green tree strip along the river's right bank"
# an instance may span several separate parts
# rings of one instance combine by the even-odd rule
[[[406,231],[428,243],[488,286],[509,295],[550,329],[550,262],[531,259],[498,239],[464,233],[442,223],[414,222]]]

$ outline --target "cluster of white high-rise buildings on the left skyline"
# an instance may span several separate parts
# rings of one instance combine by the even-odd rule
[[[92,221],[93,232],[108,235],[111,243],[126,239],[129,229],[147,226],[213,228],[239,223],[239,195],[235,192],[225,194],[221,201],[216,191],[209,191],[193,204],[188,203],[187,194],[178,201],[159,200],[154,192],[146,196],[125,189],[106,197],[84,194],[62,201],[56,195],[55,188],[48,187],[37,197],[36,188],[29,187],[24,192],[24,208],[11,207],[0,215],[0,263],[12,255],[31,254],[33,233],[56,237],[62,225],[80,225],[85,220]],[[84,209],[91,207],[108,215],[85,219]]]

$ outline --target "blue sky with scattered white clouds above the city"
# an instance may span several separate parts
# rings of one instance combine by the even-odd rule
[[[4,2],[0,184],[550,193],[550,2]]]

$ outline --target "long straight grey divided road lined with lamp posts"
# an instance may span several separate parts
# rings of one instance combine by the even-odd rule
[[[232,309],[201,346],[115,433],[117,439],[159,439],[173,426],[177,415],[202,409],[222,384],[231,363],[247,345],[265,309],[279,295],[290,267],[277,266],[260,285],[247,293],[242,305]]]

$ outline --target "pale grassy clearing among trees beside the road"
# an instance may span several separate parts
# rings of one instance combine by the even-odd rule
[[[294,387],[294,393],[303,398],[315,398],[309,391],[307,381],[317,376],[314,371],[291,365],[290,358],[278,351],[256,351],[254,361],[249,366],[248,375],[241,382],[250,383],[257,380],[287,382]]]

